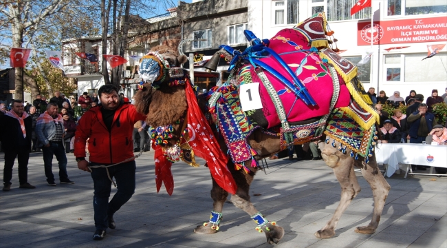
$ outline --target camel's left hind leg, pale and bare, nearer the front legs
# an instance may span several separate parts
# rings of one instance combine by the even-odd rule
[[[334,174],[340,183],[342,188],[340,203],[332,216],[331,220],[319,231],[316,231],[315,236],[317,238],[331,238],[335,235],[335,228],[337,226],[338,220],[340,220],[342,214],[345,212],[352,199],[357,196],[360,192],[360,185],[358,184],[358,180],[356,178],[356,174],[354,173],[354,162],[349,154],[349,150],[347,154],[343,154],[336,147],[331,145],[332,140],[329,142],[329,145],[325,143],[324,148],[321,149],[323,159],[329,167],[334,169]]]

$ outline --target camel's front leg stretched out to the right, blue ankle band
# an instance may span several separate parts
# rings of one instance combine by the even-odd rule
[[[246,166],[248,163],[246,162]],[[251,168],[251,167],[250,167]],[[255,171],[254,168],[251,168]],[[231,169],[230,169],[231,170]],[[257,231],[264,232],[267,242],[272,245],[278,243],[284,236],[284,229],[275,222],[270,222],[254,207],[250,202],[250,185],[252,183],[254,172],[246,173],[243,169],[239,171],[232,171],[232,175],[237,183],[237,192],[231,197],[232,203],[246,211],[247,214],[257,223]]]

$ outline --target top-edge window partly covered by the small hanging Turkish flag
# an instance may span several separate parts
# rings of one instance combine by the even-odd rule
[[[351,16],[351,8],[358,0],[327,0],[327,21],[343,21],[371,18],[371,7]]]

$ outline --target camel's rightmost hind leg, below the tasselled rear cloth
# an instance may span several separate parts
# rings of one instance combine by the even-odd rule
[[[361,162],[356,162],[361,163]],[[377,162],[375,161],[375,155],[369,159],[369,163],[362,167],[362,175],[367,180],[371,189],[373,190],[374,197],[374,211],[373,219],[369,225],[364,227],[357,227],[356,232],[360,234],[373,234],[375,229],[379,225],[380,216],[385,205],[386,197],[391,189],[390,185],[386,182],[382,173],[378,169]]]

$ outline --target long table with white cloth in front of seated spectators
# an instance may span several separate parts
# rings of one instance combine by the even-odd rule
[[[386,176],[392,176],[399,164],[406,165],[406,175],[413,173],[411,165],[430,166],[430,174],[433,175],[433,167],[447,167],[447,145],[424,144],[378,144],[374,149],[377,163],[388,164]],[[426,174],[424,174],[426,175]]]

